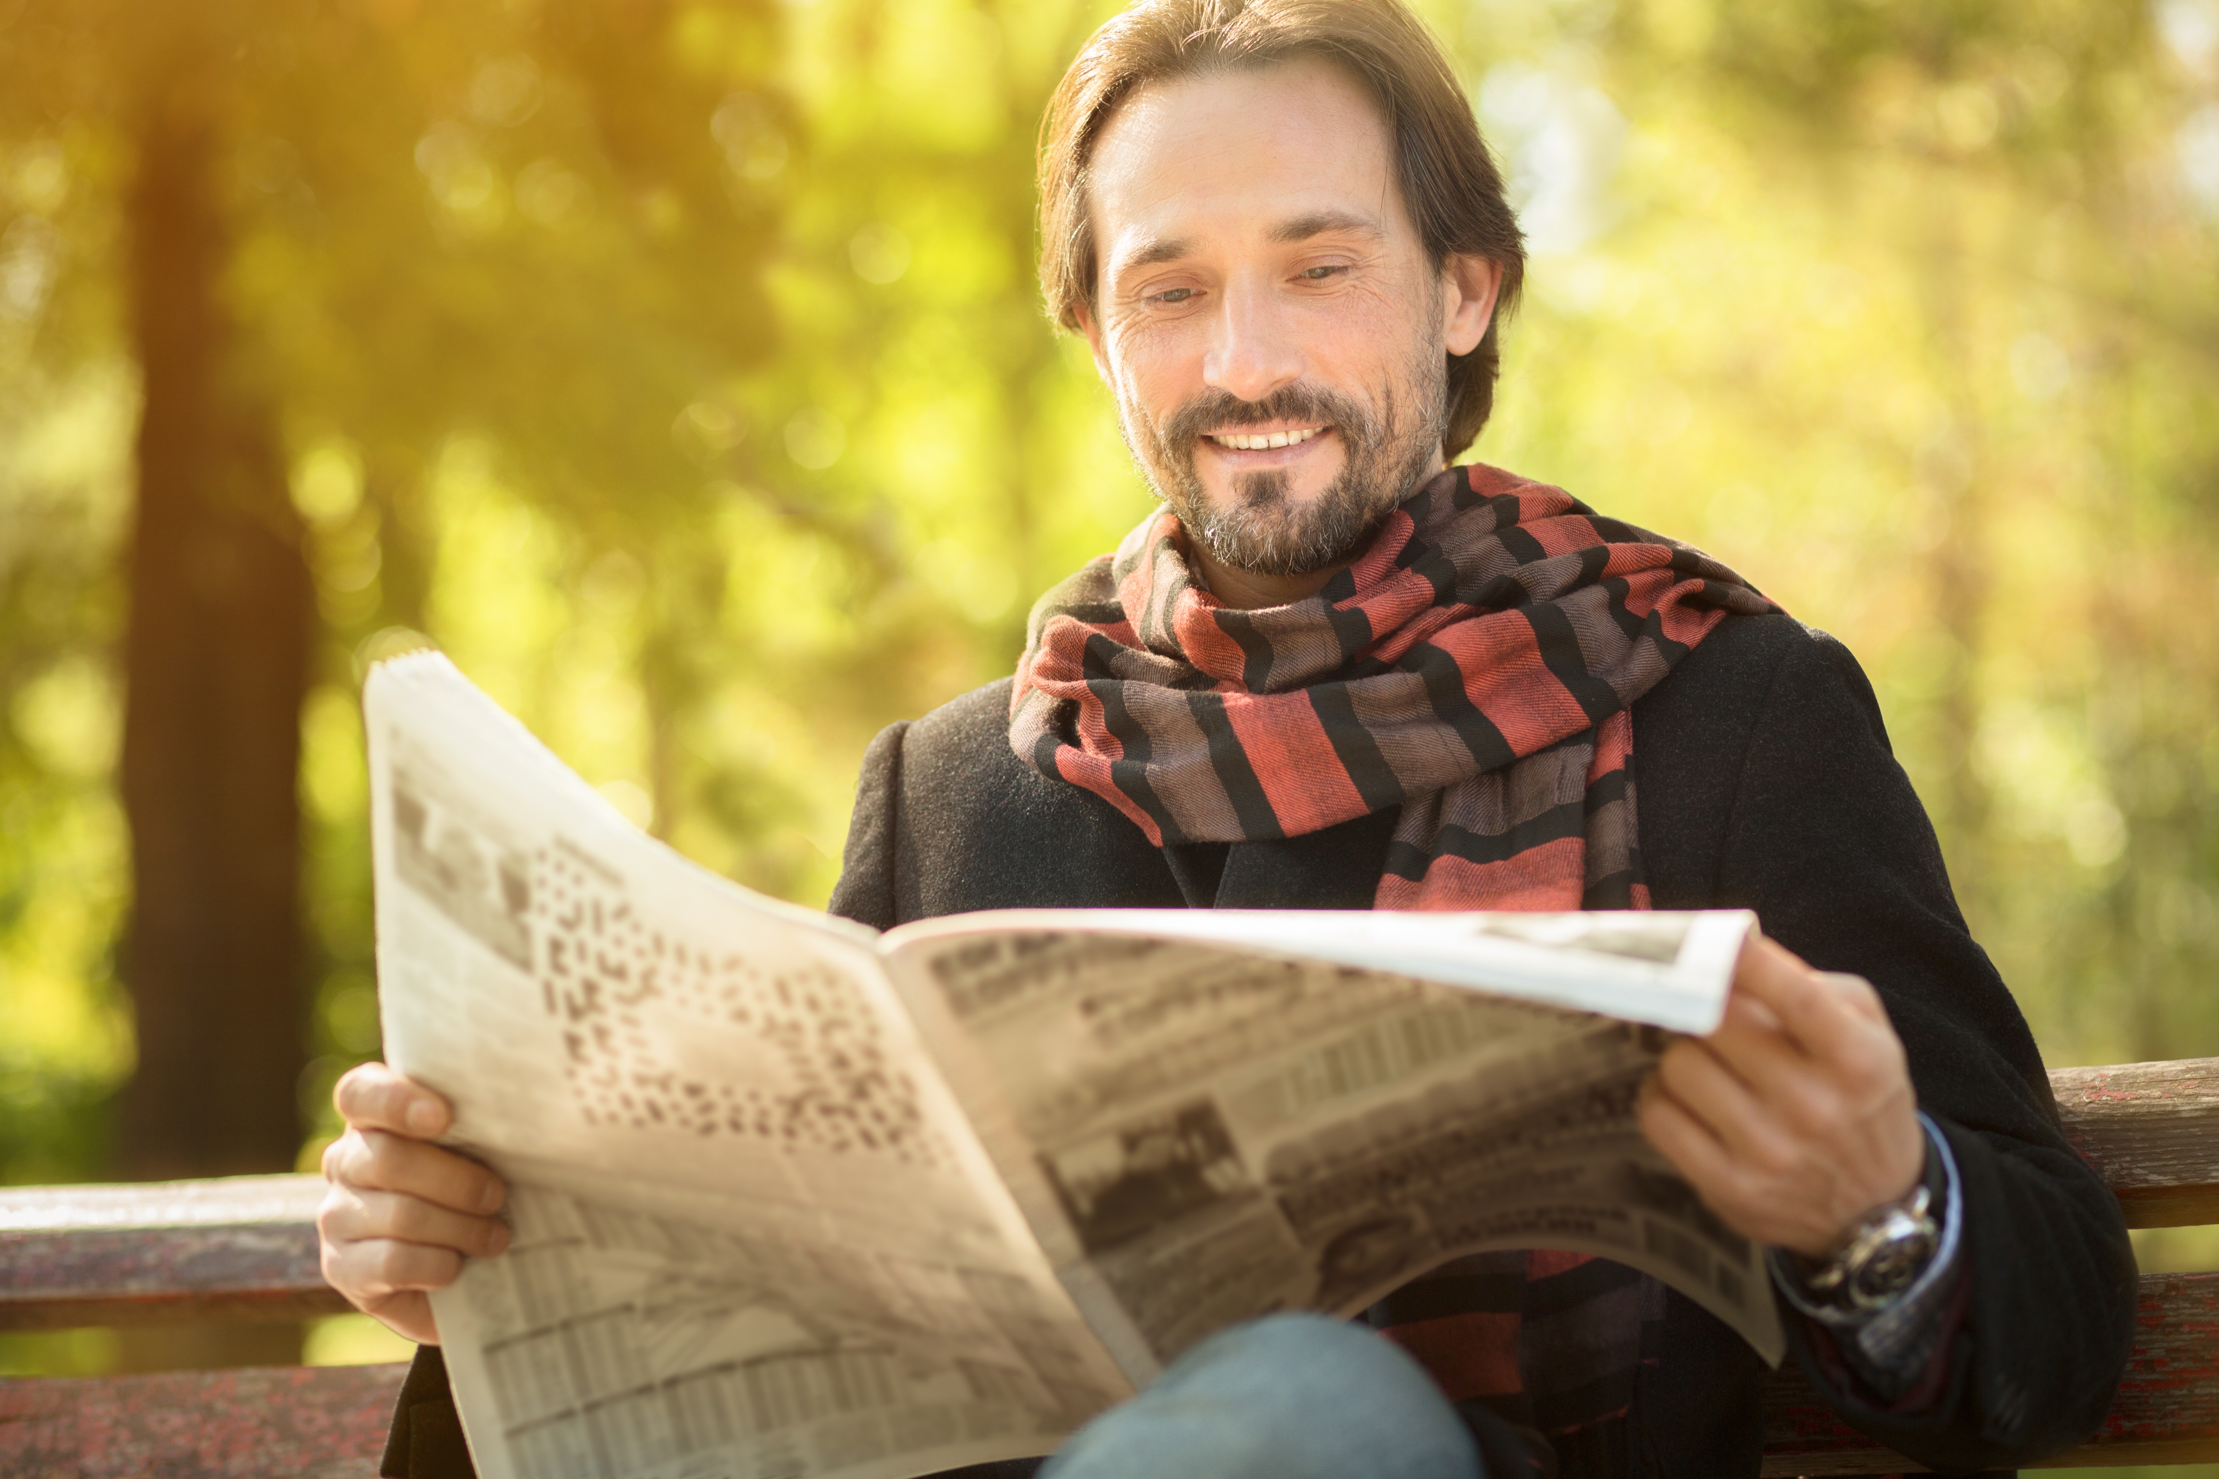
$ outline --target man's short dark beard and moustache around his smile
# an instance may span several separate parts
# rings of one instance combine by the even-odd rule
[[[1447,412],[1445,346],[1427,346],[1380,388],[1378,406],[1296,381],[1260,401],[1205,390],[1163,421],[1152,421],[1118,392],[1125,446],[1187,539],[1200,541],[1234,570],[1274,577],[1314,574],[1354,559],[1425,477],[1447,430]],[[1294,479],[1285,468],[1238,472],[1229,497],[1212,501],[1194,466],[1203,432],[1271,421],[1329,426],[1340,437],[1340,472],[1305,506],[1289,499]]]

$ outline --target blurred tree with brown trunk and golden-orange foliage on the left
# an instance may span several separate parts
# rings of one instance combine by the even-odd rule
[[[699,477],[661,428],[768,346],[752,264],[777,197],[726,153],[790,149],[761,86],[774,11],[33,0],[0,20],[0,129],[109,162],[87,173],[131,244],[129,315],[73,326],[140,373],[118,1169],[286,1169],[302,701],[317,670],[353,681],[366,632],[424,623],[422,479],[455,432],[595,543],[686,517]],[[331,457],[295,490],[308,448]],[[322,654],[311,557],[342,641]]]

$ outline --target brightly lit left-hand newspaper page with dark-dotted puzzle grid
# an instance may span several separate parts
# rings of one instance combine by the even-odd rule
[[[433,1299],[479,1475],[892,1479],[1125,1395],[868,929],[652,843],[446,659],[366,714],[386,1055],[510,1186]]]

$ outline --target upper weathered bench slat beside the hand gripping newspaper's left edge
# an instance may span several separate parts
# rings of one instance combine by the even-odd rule
[[[315,1175],[0,1191],[0,1330],[342,1313]]]

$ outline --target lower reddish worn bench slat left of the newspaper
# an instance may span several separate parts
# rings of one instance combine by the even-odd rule
[[[0,1379],[0,1475],[373,1479],[406,1366]]]

